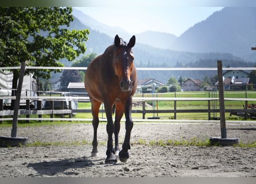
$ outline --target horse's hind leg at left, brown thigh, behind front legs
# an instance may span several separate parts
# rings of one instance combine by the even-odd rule
[[[93,151],[91,151],[91,156],[98,156],[97,129],[100,122],[98,118],[100,106],[101,102],[91,100],[91,113],[93,114]]]

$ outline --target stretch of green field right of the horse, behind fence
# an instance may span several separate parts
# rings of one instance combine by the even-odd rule
[[[152,94],[136,94],[135,97],[156,97]],[[157,94],[157,97],[177,97],[177,98],[219,98],[219,93],[212,91],[196,91],[196,92],[177,92],[177,93],[162,93]],[[255,91],[224,91],[224,98],[256,98]],[[147,102],[152,105],[152,102]],[[255,104],[256,101],[248,101],[248,104]],[[225,101],[226,109],[243,109],[244,101]],[[156,103],[155,103],[156,106]],[[134,108],[133,108],[134,109]],[[174,109],[173,101],[159,101],[155,109]],[[177,109],[208,109],[207,101],[177,101]],[[219,109],[219,101],[211,102],[211,109]],[[219,117],[219,113],[214,114]],[[142,115],[140,115],[141,117]],[[161,118],[173,118],[173,114],[158,114]],[[213,114],[211,115],[211,117]],[[133,117],[137,117],[136,115]],[[152,117],[148,114],[146,117]],[[177,113],[177,119],[194,119],[194,120],[208,120],[208,113]],[[230,117],[230,113],[226,113],[226,119],[237,120],[241,119],[237,116]]]

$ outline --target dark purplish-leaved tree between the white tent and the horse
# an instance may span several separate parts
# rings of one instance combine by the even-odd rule
[[[63,89],[68,86],[70,82],[81,82],[82,75],[78,70],[64,70],[62,76],[60,76],[60,87]]]

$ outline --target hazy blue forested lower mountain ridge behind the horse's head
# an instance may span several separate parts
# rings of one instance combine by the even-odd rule
[[[98,30],[91,29],[89,26],[82,24],[77,17],[74,17],[74,21],[68,29],[89,29],[89,40],[86,41],[86,52],[85,54],[95,52],[98,55],[103,53],[105,49],[113,43],[113,37],[108,34],[101,33]],[[129,39],[130,37],[128,37]],[[126,40],[127,41],[127,40]],[[205,67],[216,66],[217,60],[238,60],[242,61],[239,57],[235,57],[230,53],[193,53],[193,52],[182,52],[173,51],[170,49],[161,49],[152,47],[150,45],[142,44],[136,42],[133,48],[133,53],[135,55],[135,65],[137,67],[185,67],[190,66],[192,63],[199,60],[205,61]],[[71,62],[62,61],[65,66],[71,66]],[[232,65],[230,65],[232,66]],[[152,78],[166,83],[170,76],[182,76],[185,78],[200,78],[202,79],[206,72],[198,71],[138,71],[139,79]],[[209,75],[212,75],[209,74]],[[59,76],[56,76],[58,78]]]

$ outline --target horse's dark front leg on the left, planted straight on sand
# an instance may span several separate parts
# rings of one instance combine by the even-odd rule
[[[115,164],[117,162],[117,159],[113,149],[114,124],[112,119],[112,105],[110,105],[110,103],[104,103],[104,105],[105,105],[106,118],[108,121],[106,124],[106,132],[108,133],[108,144],[107,144],[107,150],[106,150],[105,163]]]

